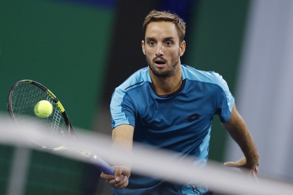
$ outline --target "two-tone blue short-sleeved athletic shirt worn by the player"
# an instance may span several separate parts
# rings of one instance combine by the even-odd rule
[[[231,117],[234,97],[227,82],[213,71],[181,65],[182,84],[168,95],[154,89],[149,67],[142,68],[118,86],[110,104],[112,129],[134,127],[133,141],[194,157],[206,164],[213,116],[221,122]],[[182,157],[181,156],[181,157]],[[127,188],[114,194],[202,194],[204,185],[185,186],[131,173]]]

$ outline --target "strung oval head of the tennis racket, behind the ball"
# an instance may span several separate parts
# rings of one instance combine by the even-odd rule
[[[47,118],[39,118],[34,113],[35,105],[46,100],[53,107],[52,114]],[[75,138],[75,132],[70,124],[69,118],[57,97],[44,85],[33,80],[20,80],[16,82],[8,96],[8,113],[17,122],[27,122],[32,125],[38,125],[40,131],[46,131],[54,136],[72,136]],[[32,140],[42,149],[48,150],[59,147],[60,145],[40,144],[37,140]]]

